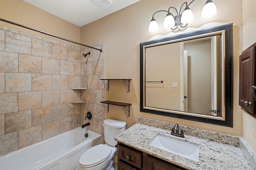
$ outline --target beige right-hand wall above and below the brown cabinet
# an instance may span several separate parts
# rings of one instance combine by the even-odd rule
[[[243,50],[256,42],[256,1],[243,0]],[[255,117],[243,111],[243,136],[256,152],[256,137],[252,135],[252,119]]]

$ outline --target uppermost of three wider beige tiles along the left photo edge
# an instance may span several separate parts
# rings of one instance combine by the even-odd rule
[[[0,72],[18,72],[18,54],[0,51]]]

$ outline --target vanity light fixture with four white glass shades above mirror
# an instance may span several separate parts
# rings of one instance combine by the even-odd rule
[[[194,0],[192,0],[194,2]],[[189,4],[187,2],[184,2],[182,6],[186,4],[186,7],[184,8],[184,11],[181,13],[182,6],[180,7],[180,11],[173,6],[171,6],[168,11],[166,10],[160,10],[157,11],[153,14],[152,20],[150,21],[148,31],[149,32],[155,32],[158,29],[158,24],[156,20],[154,19],[154,15],[158,12],[167,12],[167,15],[164,19],[164,27],[165,28],[171,28],[172,30],[177,29],[178,26],[184,28],[188,25],[189,22],[193,21],[193,13],[190,10],[189,6],[192,3],[190,2]],[[170,9],[174,9],[176,11],[176,16],[174,16],[171,12]],[[202,18],[210,18],[212,16],[215,16],[217,14],[216,6],[212,2],[212,0],[207,0],[206,3],[204,4],[204,8],[202,10]]]

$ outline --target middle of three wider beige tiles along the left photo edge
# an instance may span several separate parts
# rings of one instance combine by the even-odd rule
[[[18,93],[0,93],[0,114],[18,111]]]

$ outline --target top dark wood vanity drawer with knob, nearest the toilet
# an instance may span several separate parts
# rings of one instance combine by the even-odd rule
[[[118,145],[118,160],[123,160],[124,162],[141,169],[142,154],[122,145]]]

